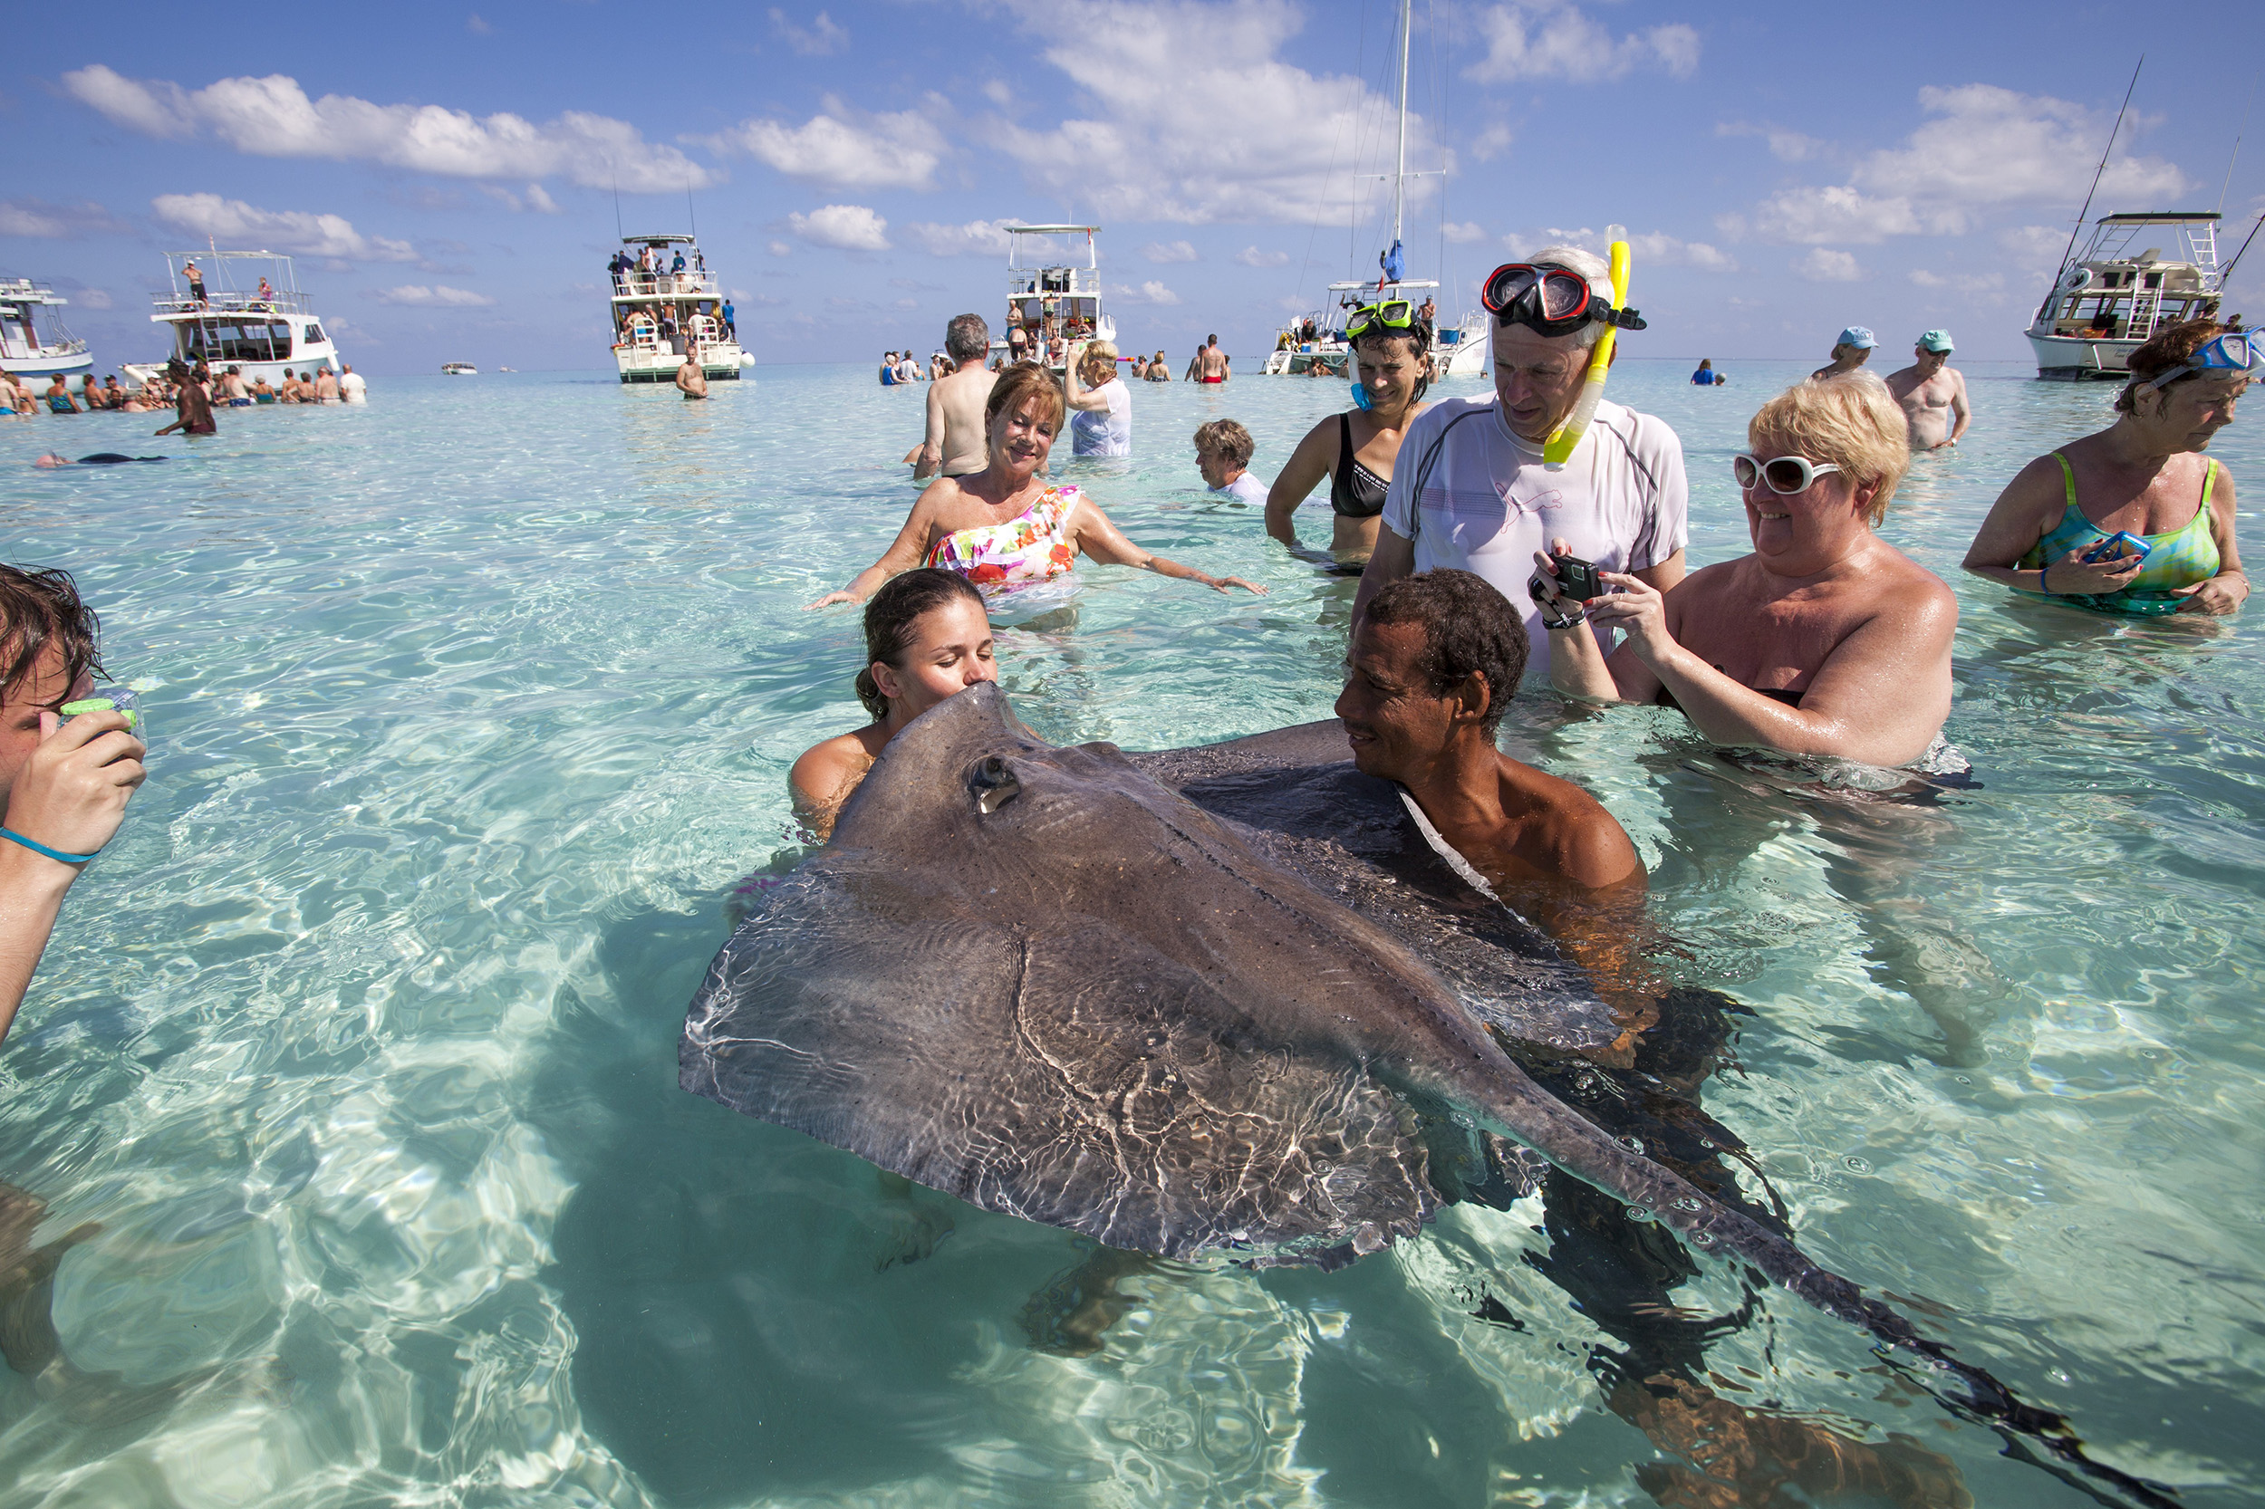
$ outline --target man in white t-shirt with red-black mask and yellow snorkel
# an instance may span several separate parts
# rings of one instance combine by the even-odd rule
[[[1581,399],[1597,338],[1610,326],[1644,329],[1635,310],[1613,308],[1604,258],[1545,247],[1497,267],[1484,301],[1495,315],[1495,392],[1443,399],[1400,440],[1352,625],[1388,582],[1443,566],[1472,571],[1520,605],[1533,643],[1527,675],[1549,675],[1547,625],[1527,591],[1533,555],[1574,555],[1660,591],[1681,582],[1683,442],[1651,415],[1599,401],[1565,464],[1542,464],[1545,442]],[[1599,648],[1613,643],[1599,639]]]

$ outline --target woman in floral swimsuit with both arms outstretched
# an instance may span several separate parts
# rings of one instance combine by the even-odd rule
[[[1049,485],[1040,476],[1062,428],[1062,390],[1044,367],[1017,363],[999,374],[983,424],[990,467],[931,483],[881,560],[811,607],[863,603],[881,582],[915,566],[958,571],[994,594],[1065,576],[1080,551],[1101,564],[1176,576],[1214,591],[1266,591],[1239,576],[1205,576],[1142,551],[1078,487]]]

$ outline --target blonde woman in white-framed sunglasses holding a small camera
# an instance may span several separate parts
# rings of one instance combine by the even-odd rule
[[[1873,535],[1912,462],[1909,426],[1869,374],[1801,383],[1746,426],[1730,460],[1753,553],[1667,594],[1601,571],[1579,603],[1556,562],[1531,582],[1549,680],[1599,702],[1665,702],[1724,745],[1905,766],[1950,716],[1957,598]],[[1563,544],[1552,544],[1563,555]],[[1588,625],[1619,630],[1606,657]]]

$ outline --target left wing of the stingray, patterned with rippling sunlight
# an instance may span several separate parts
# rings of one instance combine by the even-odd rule
[[[684,1088],[1164,1258],[1330,1262],[1431,1217],[1413,1117],[1357,1065],[1237,1042],[1203,979],[1103,922],[920,920],[901,884],[834,854],[779,886],[693,999]]]

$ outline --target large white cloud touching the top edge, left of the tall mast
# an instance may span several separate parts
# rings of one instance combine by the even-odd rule
[[[1078,118],[1051,127],[992,116],[985,145],[1019,161],[1078,213],[1178,224],[1341,220],[1354,172],[1379,163],[1375,120],[1393,106],[1348,75],[1282,61],[1302,29],[1296,0],[1001,0],[1069,75]],[[1053,93],[1053,91],[1049,91]],[[1026,95],[1028,97],[1028,95]],[[1042,97],[1042,95],[1037,95]],[[1370,161],[1345,143],[1368,140]],[[1409,161],[1452,165],[1422,116]],[[1436,193],[1418,179],[1418,195]],[[1375,186],[1364,186],[1375,195]]]

